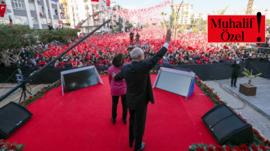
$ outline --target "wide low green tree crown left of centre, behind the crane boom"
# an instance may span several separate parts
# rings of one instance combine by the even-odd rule
[[[59,30],[51,30],[43,29],[38,31],[38,39],[40,42],[52,42],[54,40],[61,42],[63,44],[68,44],[72,38],[77,38],[76,29],[59,29]]]

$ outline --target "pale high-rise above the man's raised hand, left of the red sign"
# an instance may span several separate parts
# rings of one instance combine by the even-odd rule
[[[173,9],[175,11],[178,10],[180,4],[175,4]],[[182,3],[179,12],[180,18],[178,20],[179,24],[191,24],[192,16],[193,16],[193,5],[189,3]]]

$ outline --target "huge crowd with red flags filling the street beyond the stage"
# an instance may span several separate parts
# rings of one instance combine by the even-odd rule
[[[148,60],[162,47],[165,40],[164,30],[160,29],[159,26],[151,26],[137,32],[140,33],[139,45],[141,45],[145,52],[145,60]],[[72,38],[72,42],[77,42],[77,40]],[[270,40],[268,43],[270,44]],[[47,51],[40,54],[40,57],[29,55],[28,52],[33,50],[30,50],[30,47],[26,47],[19,56],[19,61],[12,63],[11,66],[42,67],[63,53],[71,45],[34,46],[34,51],[38,51],[42,47],[47,49]],[[129,33],[90,35],[84,42],[81,42],[77,47],[54,62],[51,67],[86,67],[89,65],[109,67],[112,65],[113,57],[118,52],[124,53],[126,55],[125,63],[129,63],[132,61],[129,47],[132,47],[130,45]],[[168,52],[159,61],[158,65],[232,63],[233,61],[241,62],[247,59],[269,61],[269,54],[257,54],[251,49],[246,49],[246,47],[251,47],[251,45],[208,43],[207,35],[201,33],[178,33],[177,37],[170,42]],[[1,66],[7,66],[5,61],[1,61]]]

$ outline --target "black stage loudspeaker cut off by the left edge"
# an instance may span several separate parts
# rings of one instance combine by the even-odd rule
[[[20,126],[22,126],[27,120],[29,120],[33,114],[24,107],[10,102],[0,108],[0,140],[5,139],[10,134],[15,132]]]

